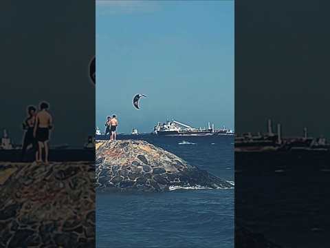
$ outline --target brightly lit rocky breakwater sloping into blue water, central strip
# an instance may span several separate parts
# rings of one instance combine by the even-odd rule
[[[232,184],[145,141],[96,143],[96,189],[163,192],[180,187],[219,189]]]

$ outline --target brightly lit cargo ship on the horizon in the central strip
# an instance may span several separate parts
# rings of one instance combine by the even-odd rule
[[[157,123],[153,128],[152,134],[155,135],[166,135],[166,136],[208,136],[208,135],[234,135],[232,130],[215,130],[214,124],[212,127],[210,122],[208,123],[208,128],[196,128],[186,125],[179,121],[166,121],[166,123]]]

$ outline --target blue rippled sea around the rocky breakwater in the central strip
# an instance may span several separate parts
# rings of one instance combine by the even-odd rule
[[[122,136],[162,147],[188,163],[234,179],[231,136]],[[234,247],[234,189],[96,196],[96,247]]]

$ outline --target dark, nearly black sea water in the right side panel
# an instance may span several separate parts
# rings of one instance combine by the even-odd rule
[[[235,167],[236,227],[281,247],[329,247],[330,152],[238,152]]]

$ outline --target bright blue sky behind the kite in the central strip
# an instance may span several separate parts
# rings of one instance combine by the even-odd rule
[[[96,1],[96,125],[234,128],[234,1]],[[135,94],[146,94],[141,109]]]

